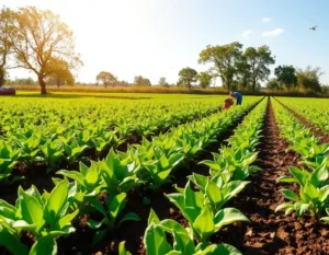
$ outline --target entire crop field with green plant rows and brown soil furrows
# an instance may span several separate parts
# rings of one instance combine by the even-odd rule
[[[0,97],[0,255],[329,254],[329,101]]]

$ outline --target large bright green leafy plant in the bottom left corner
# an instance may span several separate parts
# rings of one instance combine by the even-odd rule
[[[35,186],[27,190],[20,187],[15,206],[0,200],[2,245],[13,254],[27,254],[20,243],[22,231],[27,230],[36,239],[30,254],[56,254],[56,239],[75,232],[71,221],[79,210],[70,211],[69,208],[76,189],[77,186],[64,179],[50,194],[44,192],[41,195]]]

